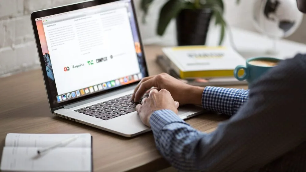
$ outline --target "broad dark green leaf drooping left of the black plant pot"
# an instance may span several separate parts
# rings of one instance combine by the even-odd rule
[[[162,7],[159,14],[157,34],[162,36],[170,23],[171,19],[175,18],[178,13],[185,7],[185,2],[182,0],[169,0]]]

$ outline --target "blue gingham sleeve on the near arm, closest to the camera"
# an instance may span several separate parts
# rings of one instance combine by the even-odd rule
[[[198,170],[192,149],[200,138],[209,135],[195,130],[170,110],[154,112],[150,125],[157,149],[173,167],[181,171]]]

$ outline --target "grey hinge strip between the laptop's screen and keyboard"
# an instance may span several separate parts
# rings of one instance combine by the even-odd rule
[[[64,106],[64,108],[65,109],[70,109],[70,108],[74,108],[76,106],[80,106],[82,104],[90,103],[92,101],[97,101],[97,100],[100,100],[100,99],[103,99],[103,98],[106,98],[106,97],[114,96],[116,94],[124,93],[126,91],[134,89],[136,86],[137,86],[137,84],[132,85],[132,86],[128,86],[128,87],[125,87],[125,88],[122,88],[122,89],[119,89],[119,90],[115,90],[115,91],[112,91],[112,92],[109,92],[109,93],[105,93],[105,94],[102,94],[102,95],[99,95],[99,96],[96,96],[96,97],[92,97],[90,99],[86,99],[86,100],[83,100],[83,101],[78,101],[78,102],[66,105],[66,106]]]

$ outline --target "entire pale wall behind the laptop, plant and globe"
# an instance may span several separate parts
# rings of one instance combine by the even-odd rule
[[[224,18],[227,23],[231,27],[257,32],[252,21],[255,1],[257,0],[241,0],[237,5],[236,0],[225,0]],[[80,2],[80,0],[0,0],[0,77],[39,68],[30,13],[74,2]],[[170,22],[162,37],[156,34],[159,10],[165,2],[166,0],[155,0],[148,10],[147,22],[143,23],[144,13],[140,9],[141,1],[134,0],[144,44],[177,45],[175,20]],[[211,22],[214,21],[211,20]],[[213,24],[210,25],[212,26]],[[306,43],[305,30],[306,18],[303,17],[300,27],[285,39]],[[217,45],[218,41],[215,42]]]

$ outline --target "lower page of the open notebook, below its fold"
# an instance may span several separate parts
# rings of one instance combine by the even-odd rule
[[[91,164],[91,148],[54,148],[38,156],[34,147],[5,147],[1,170],[89,172]]]

